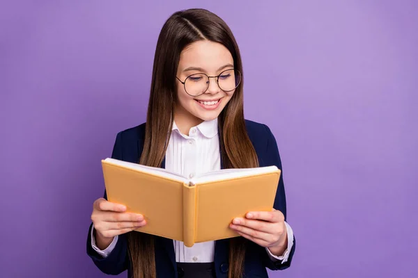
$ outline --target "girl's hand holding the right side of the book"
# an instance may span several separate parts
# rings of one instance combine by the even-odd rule
[[[281,256],[287,248],[284,215],[274,208],[273,211],[249,212],[245,218],[235,218],[229,227],[240,236],[268,247],[275,256]]]

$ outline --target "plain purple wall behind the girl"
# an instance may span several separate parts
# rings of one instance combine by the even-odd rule
[[[85,246],[100,159],[144,122],[160,28],[196,1],[8,2],[0,277],[104,277]],[[231,26],[246,117],[281,152],[298,245],[271,277],[418,277],[418,2],[201,3]]]

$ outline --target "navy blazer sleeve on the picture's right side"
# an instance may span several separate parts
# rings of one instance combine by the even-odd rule
[[[281,159],[279,155],[279,149],[277,148],[277,142],[274,138],[274,135],[272,131],[270,131],[269,127],[265,126],[266,131],[266,137],[267,137],[267,143],[265,148],[265,155],[264,155],[264,161],[265,165],[275,165],[281,170],[281,175],[279,179],[279,186],[277,187],[277,193],[276,197],[274,199],[274,205],[273,207],[281,213],[284,214],[284,219],[286,221],[286,194],[284,190],[284,182],[283,182],[283,169],[281,166]],[[286,221],[287,222],[287,221]],[[292,240],[292,238],[289,238],[288,240]],[[292,250],[290,250],[290,254],[288,257],[288,261],[286,263],[282,263],[282,261],[272,261],[267,252],[265,252],[265,249],[261,250],[261,254],[263,256],[263,262],[267,268],[270,270],[285,270],[286,268],[289,268],[292,263],[293,254],[295,253],[295,247],[296,247],[296,240],[295,236],[293,236],[293,247]]]

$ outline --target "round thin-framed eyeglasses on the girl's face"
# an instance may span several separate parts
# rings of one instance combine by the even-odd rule
[[[176,79],[185,86],[187,95],[197,97],[203,95],[209,88],[209,79],[216,78],[216,83],[224,92],[235,90],[241,82],[241,73],[238,70],[224,70],[217,76],[208,76],[207,74],[198,73],[187,76],[182,82],[176,76]]]

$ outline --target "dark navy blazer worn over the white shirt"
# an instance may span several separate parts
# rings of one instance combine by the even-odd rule
[[[277,143],[268,126],[249,120],[246,120],[245,124],[247,126],[249,138],[256,149],[260,166],[276,165],[281,170]],[[119,132],[116,136],[116,142],[111,157],[122,161],[138,163],[144,147],[144,135],[145,124]],[[162,167],[165,167],[164,162]],[[222,162],[221,167],[223,167]],[[104,193],[104,197],[106,198],[106,193]],[[286,196],[282,174],[274,200],[274,208],[281,211],[286,219]],[[95,265],[97,265],[102,272],[109,275],[118,275],[121,272],[128,270],[128,277],[131,277],[131,265],[127,254],[126,235],[123,234],[119,236],[114,250],[112,250],[106,258],[102,258],[102,256],[95,252],[91,247],[91,227],[92,225],[90,226],[87,237],[87,254],[93,259]],[[289,240],[292,240],[292,238],[289,238]],[[295,240],[295,238],[293,238],[293,240]],[[281,263],[281,261],[271,261],[264,247],[249,241],[245,255],[245,277],[268,277],[266,268],[270,268],[271,270],[284,270],[288,268],[291,265],[295,246],[296,242],[294,241],[288,261],[286,263]],[[228,259],[229,240],[216,240],[214,259],[216,277],[228,277]],[[157,277],[178,277],[173,240],[155,236],[155,265],[157,268]]]

